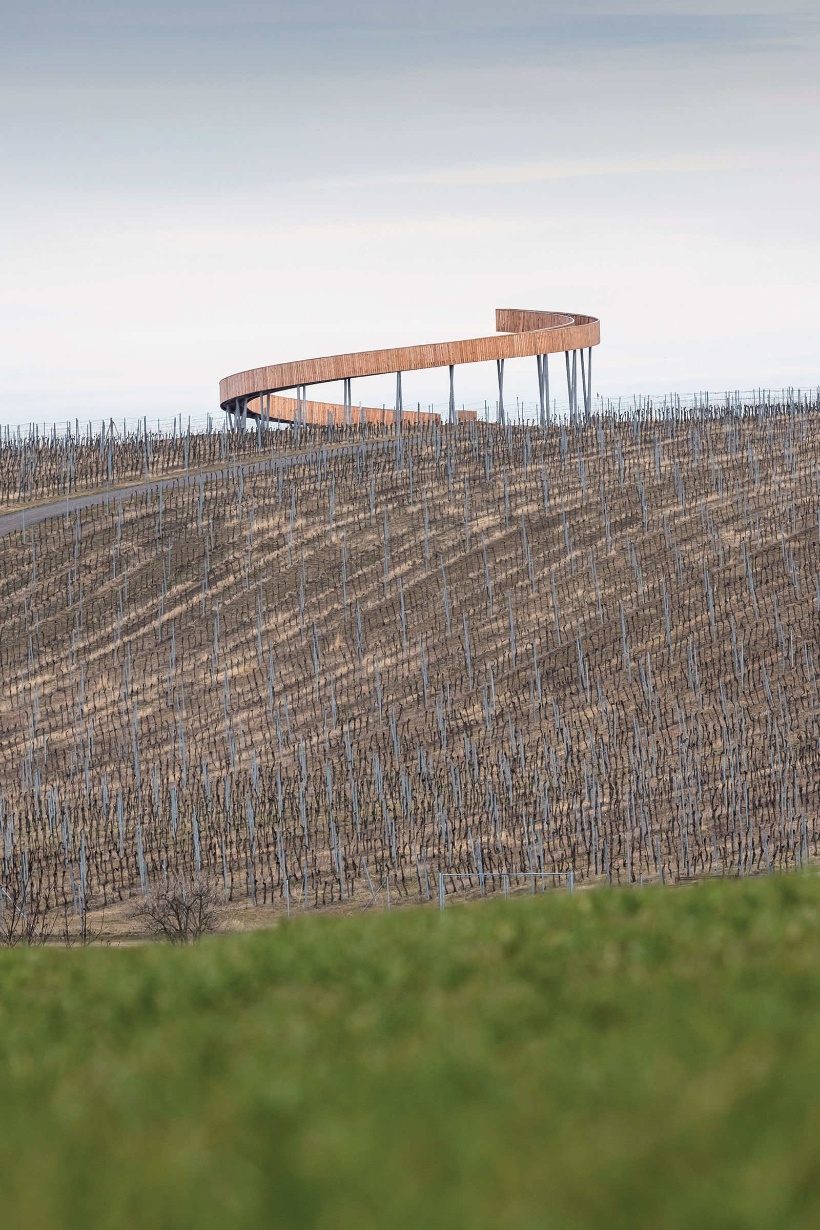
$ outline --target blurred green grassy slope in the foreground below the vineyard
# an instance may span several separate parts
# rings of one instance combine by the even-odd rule
[[[17,1230],[820,1225],[820,879],[0,954]]]

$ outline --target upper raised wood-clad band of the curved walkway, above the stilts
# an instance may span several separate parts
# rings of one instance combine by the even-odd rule
[[[358,376],[388,375],[391,371],[422,371],[450,364],[487,363],[492,359],[520,359],[532,354],[556,354],[597,346],[600,321],[595,316],[569,312],[530,311],[520,308],[495,310],[497,332],[461,342],[432,342],[428,346],[398,346],[386,351],[331,354],[295,363],[274,363],[225,376],[219,383],[220,405],[236,397],[295,389]],[[321,403],[320,403],[321,405]]]

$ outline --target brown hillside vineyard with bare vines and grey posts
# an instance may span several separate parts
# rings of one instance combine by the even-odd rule
[[[7,435],[4,935],[171,876],[291,913],[809,861],[819,444],[790,399]]]

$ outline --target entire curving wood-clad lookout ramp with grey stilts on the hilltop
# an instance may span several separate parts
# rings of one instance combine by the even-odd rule
[[[274,363],[225,376],[219,383],[221,408],[236,422],[262,418],[270,423],[306,426],[329,423],[338,426],[414,423],[428,418],[427,412],[406,411],[402,403],[402,373],[425,368],[450,369],[449,422],[461,417],[475,418],[475,412],[456,415],[454,374],[460,363],[487,363],[495,359],[498,369],[498,421],[504,417],[504,360],[535,355],[538,374],[541,424],[550,422],[550,354],[564,353],[569,412],[578,415],[580,391],[584,415],[591,412],[593,347],[601,339],[600,322],[595,316],[570,315],[557,311],[526,311],[519,308],[495,309],[495,333],[462,342],[433,342],[429,346],[400,346],[386,351],[359,351],[355,354],[332,354],[321,359],[299,359],[295,363]],[[586,362],[584,362],[586,351]],[[580,364],[578,354],[580,353]],[[580,365],[580,389],[578,368]],[[396,373],[396,407],[353,407],[352,381],[359,376],[380,376]],[[307,386],[341,380],[344,401],[307,401]],[[295,390],[295,397],[279,396]],[[438,417],[438,416],[436,416]]]

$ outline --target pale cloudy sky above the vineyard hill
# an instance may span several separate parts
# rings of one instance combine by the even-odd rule
[[[0,0],[0,423],[220,421],[497,306],[599,316],[605,396],[819,385],[819,53],[820,0]]]

